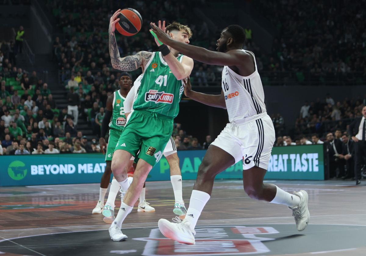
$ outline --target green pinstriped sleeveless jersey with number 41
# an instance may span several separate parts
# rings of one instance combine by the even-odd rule
[[[182,58],[183,55],[177,57],[179,62],[182,62]],[[183,81],[175,78],[161,53],[156,51],[145,66],[133,109],[175,118],[183,89]]]

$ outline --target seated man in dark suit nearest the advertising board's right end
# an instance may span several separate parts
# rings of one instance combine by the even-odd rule
[[[333,133],[326,135],[326,152],[329,157],[329,177],[344,176],[344,156],[343,144],[339,139],[335,139]],[[339,170],[337,175],[336,170]]]

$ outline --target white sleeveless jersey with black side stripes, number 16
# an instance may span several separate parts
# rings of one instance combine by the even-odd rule
[[[251,122],[267,114],[263,85],[261,77],[259,77],[254,53],[251,51],[245,52],[253,56],[255,71],[250,76],[240,76],[228,66],[224,66],[221,82],[229,122],[238,124]]]

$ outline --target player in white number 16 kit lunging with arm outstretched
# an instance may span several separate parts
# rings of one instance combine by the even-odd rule
[[[229,123],[209,146],[198,168],[186,218],[180,222],[160,219],[159,229],[165,237],[184,244],[194,244],[194,228],[212,192],[214,177],[243,159],[243,184],[250,198],[283,204],[292,209],[296,227],[304,230],[309,223],[308,195],[304,190],[290,194],[274,184],[263,183],[267,171],[275,130],[264,104],[264,91],[254,54],[242,50],[244,29],[238,25],[224,28],[217,40],[217,52],[172,41],[154,24],[158,39],[194,60],[224,66],[220,95],[191,90],[188,79],[184,93],[203,104],[226,108]]]

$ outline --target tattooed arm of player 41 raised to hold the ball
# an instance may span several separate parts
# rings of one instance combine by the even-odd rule
[[[119,21],[117,16],[119,14],[117,10],[111,17],[109,22],[109,55],[111,56],[112,67],[123,71],[133,71],[140,67],[144,67],[149,61],[152,53],[149,51],[139,51],[135,55],[126,56],[121,58],[117,47],[117,41],[115,37],[116,23]]]

